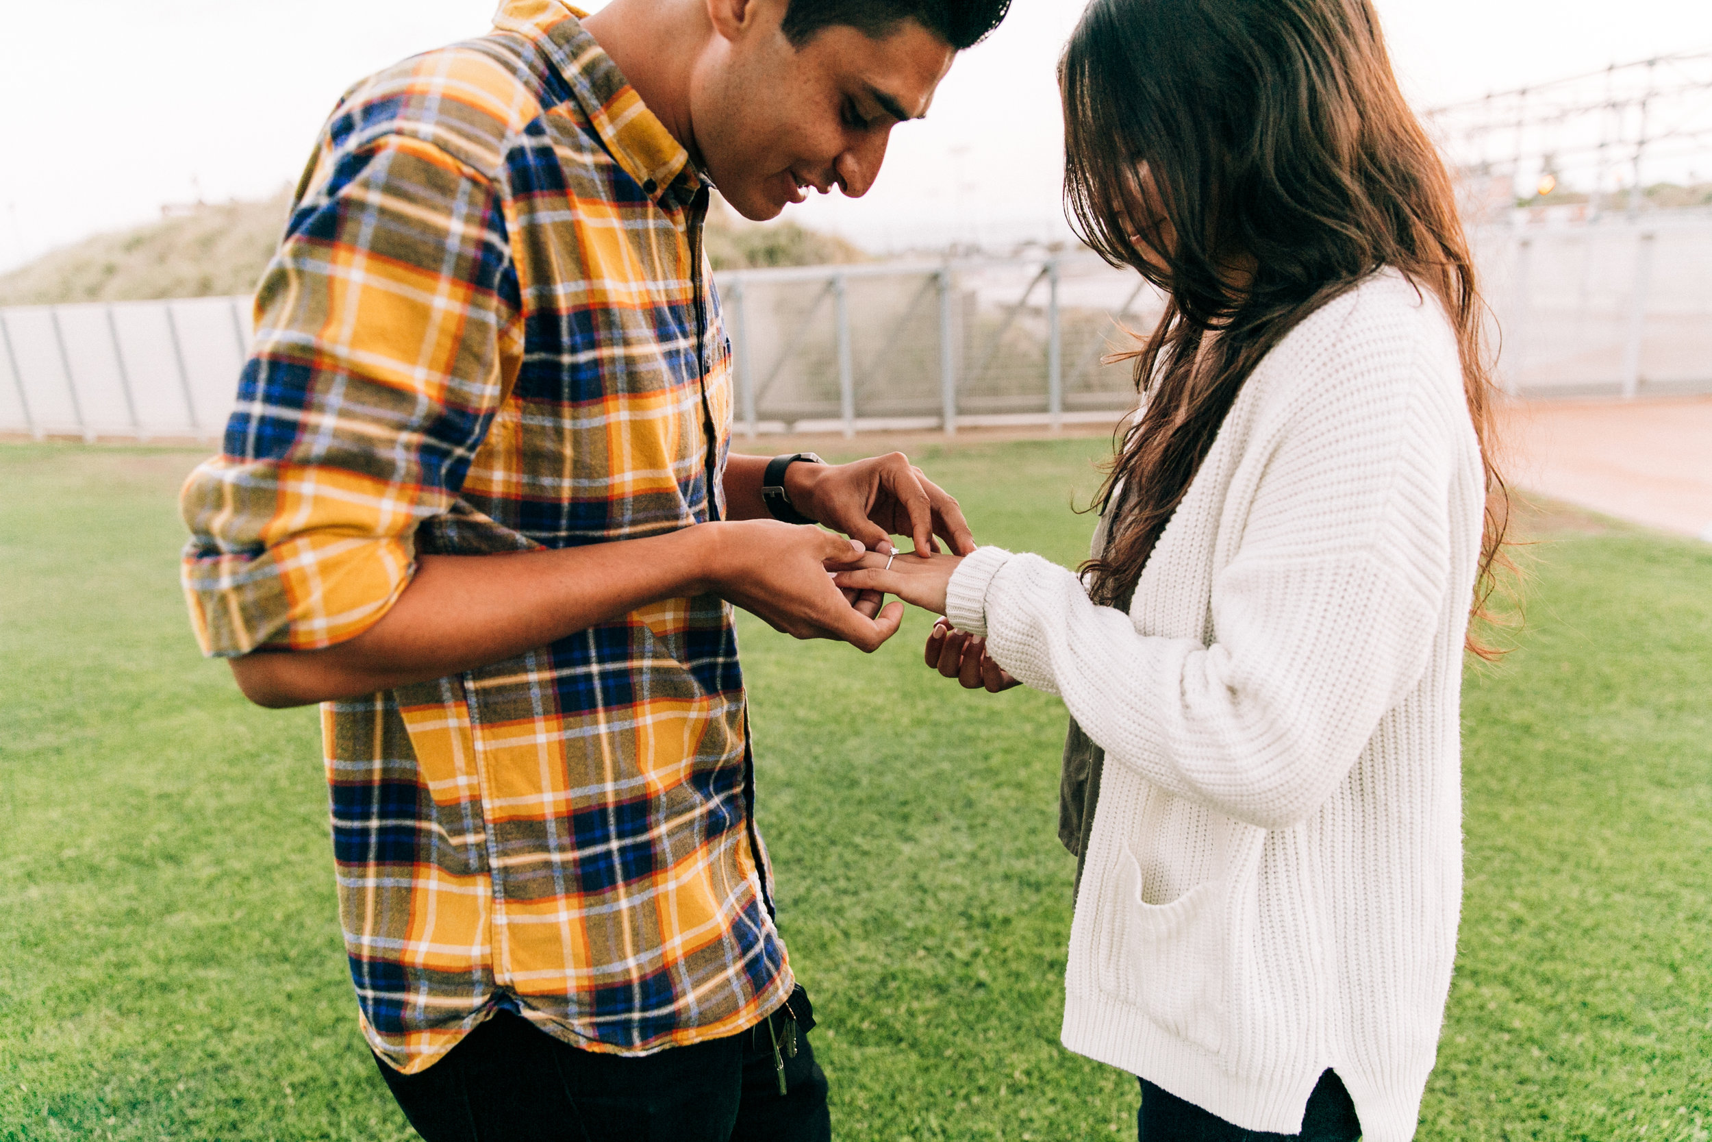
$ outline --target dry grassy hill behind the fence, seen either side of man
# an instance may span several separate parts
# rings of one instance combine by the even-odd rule
[[[62,247],[0,276],[0,305],[204,298],[255,289],[286,223],[286,192],[265,202],[197,205],[132,229]],[[714,269],[822,265],[866,255],[796,223],[745,223],[716,200],[707,219]]]

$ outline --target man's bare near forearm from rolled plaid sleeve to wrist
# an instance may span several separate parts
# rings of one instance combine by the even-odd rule
[[[250,700],[270,707],[443,678],[661,599],[702,594],[712,544],[710,529],[690,527],[558,551],[425,555],[392,610],[356,639],[248,654],[231,659],[231,669]]]

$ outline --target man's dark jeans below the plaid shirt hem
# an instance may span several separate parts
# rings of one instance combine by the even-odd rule
[[[781,1027],[782,1032],[782,1027]],[[560,1043],[502,1012],[438,1063],[380,1074],[426,1142],[829,1142],[827,1077],[808,1032],[779,1094],[767,1024],[628,1058]]]

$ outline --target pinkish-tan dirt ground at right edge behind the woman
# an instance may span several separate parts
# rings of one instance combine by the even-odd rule
[[[1712,397],[1517,402],[1503,435],[1517,488],[1712,539]]]

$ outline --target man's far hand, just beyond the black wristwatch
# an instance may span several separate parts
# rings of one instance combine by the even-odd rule
[[[957,500],[902,452],[851,464],[800,461],[784,469],[784,491],[798,512],[859,539],[870,551],[890,536],[911,536],[918,551],[938,551],[935,536],[957,555],[974,551]]]

